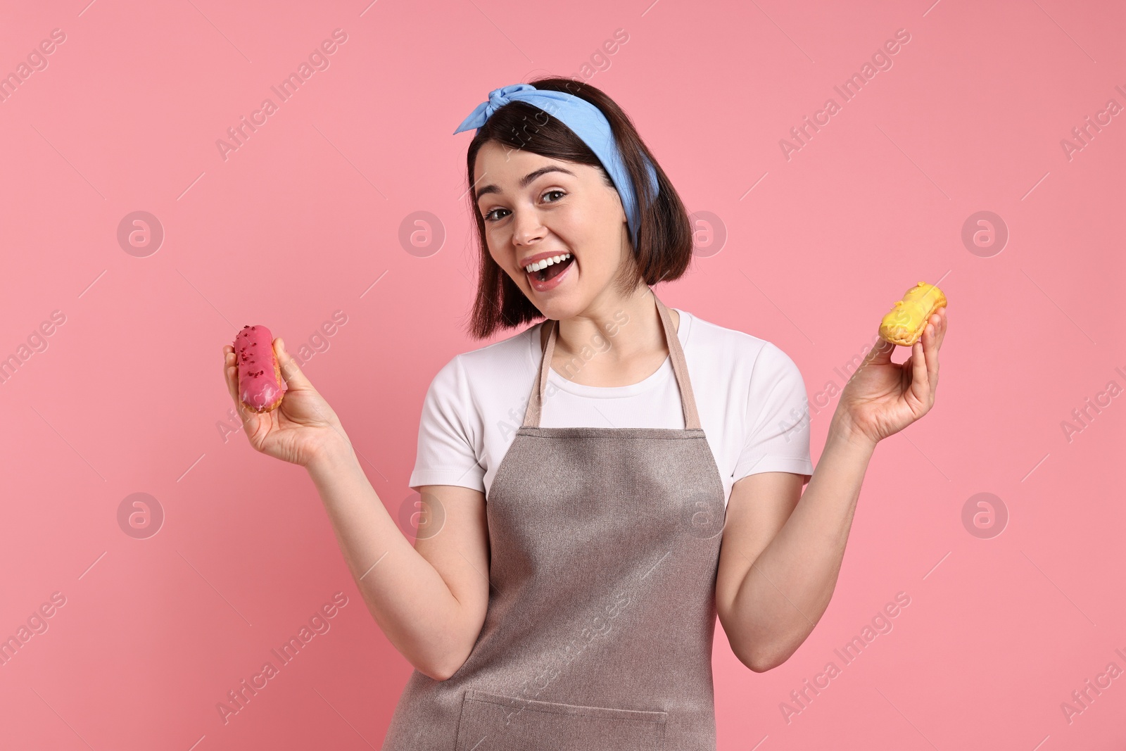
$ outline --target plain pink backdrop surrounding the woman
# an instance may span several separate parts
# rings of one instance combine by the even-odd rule
[[[794,358],[814,462],[834,368],[915,281],[950,301],[937,404],[876,450],[812,636],[759,674],[717,628],[720,748],[1120,748],[1126,677],[1061,708],[1126,670],[1126,115],[1061,145],[1126,105],[1120,3],[84,2],[7,3],[0,24],[5,73],[65,34],[0,104],[0,357],[29,355],[0,384],[0,636],[65,597],[0,668],[0,745],[379,746],[410,667],[304,470],[224,440],[221,348],[244,323],[327,342],[305,372],[397,517],[430,379],[488,343],[463,333],[471,134],[450,134],[491,89],[554,73],[614,97],[711,213],[690,274],[656,292]],[[330,66],[224,160],[226,128],[337,28]],[[833,86],[901,28],[893,66],[842,102]],[[779,141],[830,97],[787,160]],[[136,211],[164,231],[146,257],[117,240]],[[446,236],[412,254],[419,211]],[[980,211],[1008,227],[1000,252],[962,241]],[[20,350],[53,311],[46,349]],[[315,339],[334,311],[347,324]],[[1103,406],[1069,440],[1088,397]],[[166,516],[146,539],[117,519],[137,492]],[[1002,534],[964,525],[976,493],[1007,509]],[[331,631],[224,724],[215,705],[336,592]],[[893,629],[844,664],[834,647],[896,592]]]

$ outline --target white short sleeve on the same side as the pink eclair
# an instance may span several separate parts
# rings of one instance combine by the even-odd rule
[[[410,488],[462,485],[484,492],[484,467],[477,459],[471,414],[472,400],[459,356],[430,382],[419,419],[418,454]]]

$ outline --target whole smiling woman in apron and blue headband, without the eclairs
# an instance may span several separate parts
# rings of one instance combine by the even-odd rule
[[[240,405],[245,433],[309,470],[415,667],[384,749],[714,749],[716,616],[758,672],[808,636],[876,444],[933,404],[945,309],[903,365],[891,346],[867,357],[813,471],[793,360],[650,288],[685,272],[691,227],[617,105],[542,79],[492,91],[470,127],[472,332],[545,321],[430,384],[414,545],[280,339],[289,392],[272,413]]]

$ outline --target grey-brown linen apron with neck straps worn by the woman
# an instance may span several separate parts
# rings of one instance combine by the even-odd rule
[[[724,489],[680,340],[654,299],[685,428],[540,428],[551,321],[489,492],[481,634],[448,680],[414,671],[384,751],[715,749]]]

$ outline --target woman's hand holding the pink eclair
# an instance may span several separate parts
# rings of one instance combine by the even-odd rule
[[[285,462],[309,465],[333,444],[350,445],[336,412],[297,363],[285,350],[285,342],[274,340],[274,354],[282,367],[287,391],[282,403],[270,412],[254,412],[239,399],[239,365],[231,345],[223,347],[223,376],[242,420],[242,430],[256,450]]]

